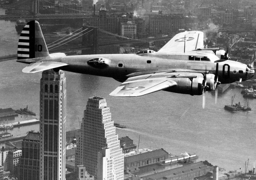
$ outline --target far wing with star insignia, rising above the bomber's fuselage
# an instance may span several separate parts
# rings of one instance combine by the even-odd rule
[[[201,31],[186,31],[176,34],[158,52],[186,52],[204,48],[204,33]]]

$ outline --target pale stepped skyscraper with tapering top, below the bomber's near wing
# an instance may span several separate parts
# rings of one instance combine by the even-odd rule
[[[102,148],[107,149],[108,153],[102,152]],[[98,156],[100,152],[103,156]],[[108,167],[98,172],[97,167],[110,158]],[[102,97],[88,99],[77,144],[76,165],[84,165],[87,172],[94,176],[94,180],[98,179],[98,173],[101,172],[109,173],[107,176],[99,176],[107,177],[108,180],[124,179],[124,154],[116,135],[114,121],[111,121],[110,109],[106,99]]]

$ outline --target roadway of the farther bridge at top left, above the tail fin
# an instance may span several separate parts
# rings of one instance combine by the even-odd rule
[[[40,20],[40,19],[86,19],[90,18],[92,13],[80,13],[80,14],[38,14],[32,15],[0,15],[0,20]]]

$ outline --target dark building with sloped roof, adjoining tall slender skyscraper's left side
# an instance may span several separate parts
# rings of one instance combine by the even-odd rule
[[[22,140],[18,179],[39,179],[40,133],[29,131]]]

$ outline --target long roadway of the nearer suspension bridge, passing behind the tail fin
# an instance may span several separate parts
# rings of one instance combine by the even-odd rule
[[[151,41],[169,41],[171,39],[171,36],[169,37],[160,37],[160,38],[144,38],[141,39],[144,42],[151,42]],[[98,44],[98,47],[105,47],[105,46],[109,46],[109,45],[122,45],[122,44],[137,44],[137,43],[142,43],[143,41],[138,41],[138,40],[125,40],[125,41],[120,41],[120,42],[112,42],[112,43],[108,43],[108,44]],[[18,43],[17,43],[18,44]],[[81,49],[88,49],[89,47],[70,47],[70,49],[68,51],[74,51],[74,50],[81,50]],[[56,52],[66,52],[66,49],[63,50],[53,50],[50,51],[50,53],[56,53]],[[11,55],[6,55],[6,56],[0,56],[0,62],[1,61],[8,61],[8,60],[12,60],[12,59],[16,59],[17,58],[17,54],[11,54]]]

